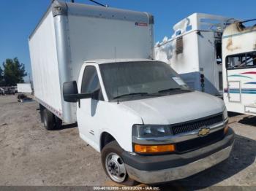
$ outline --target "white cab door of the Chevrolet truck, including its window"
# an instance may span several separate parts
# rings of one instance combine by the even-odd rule
[[[92,98],[80,99],[78,102],[77,117],[80,137],[91,147],[98,149],[99,121],[97,120],[97,112],[99,104],[104,101],[104,98],[95,66],[85,67],[78,88],[80,88],[80,93],[93,93]]]

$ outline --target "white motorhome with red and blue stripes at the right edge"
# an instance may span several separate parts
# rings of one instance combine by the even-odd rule
[[[233,23],[222,36],[224,101],[227,110],[256,115],[256,26]]]

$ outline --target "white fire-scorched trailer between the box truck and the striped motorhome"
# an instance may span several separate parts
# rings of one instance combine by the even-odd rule
[[[194,13],[155,45],[155,58],[169,63],[193,90],[222,95],[222,32],[234,19]]]

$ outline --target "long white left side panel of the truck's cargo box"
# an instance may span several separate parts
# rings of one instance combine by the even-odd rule
[[[34,95],[37,101],[61,117],[61,90],[52,12],[29,40]]]

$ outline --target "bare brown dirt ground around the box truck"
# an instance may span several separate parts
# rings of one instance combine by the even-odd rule
[[[0,96],[0,185],[116,185],[105,175],[100,155],[78,136],[76,125],[47,131],[35,101]],[[256,187],[256,117],[230,114],[236,142],[230,158],[163,189],[211,186]]]

